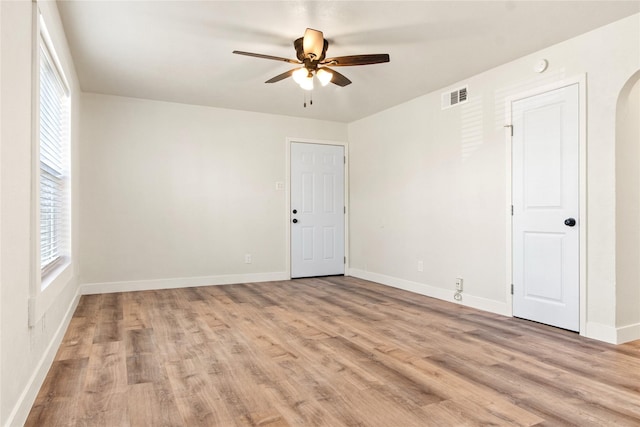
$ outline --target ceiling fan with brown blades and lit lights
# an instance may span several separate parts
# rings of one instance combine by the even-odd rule
[[[327,58],[326,53],[327,48],[329,47],[329,42],[325,40],[322,31],[313,30],[311,28],[307,28],[304,32],[304,37],[296,39],[293,42],[293,46],[296,49],[297,60],[282,58],[279,56],[263,55],[260,53],[242,52],[239,50],[234,50],[233,53],[302,65],[302,67],[294,68],[293,70],[278,74],[277,76],[267,80],[265,83],[276,83],[280,80],[286,79],[287,77],[293,77],[295,82],[306,90],[313,89],[314,75],[320,81],[322,86],[328,85],[329,82],[341,87],[351,84],[351,80],[339,72],[330,69],[329,66],[346,67],[389,62],[389,55],[386,53]]]

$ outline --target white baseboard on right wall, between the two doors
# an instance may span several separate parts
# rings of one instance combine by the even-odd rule
[[[397,277],[385,276],[383,274],[372,273],[370,271],[350,268],[348,274],[364,280],[380,283],[405,291],[414,292],[420,295],[437,298],[443,301],[449,301],[454,304],[461,304],[467,307],[477,308],[478,310],[489,311],[491,313],[509,316],[509,307],[507,303],[494,301],[487,298],[477,297],[462,293],[462,301],[453,299],[453,289],[444,289],[424,283],[412,282],[410,280],[398,279]]]

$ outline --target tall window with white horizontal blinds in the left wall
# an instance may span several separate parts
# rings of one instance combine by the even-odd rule
[[[44,23],[40,59],[40,269],[42,276],[68,259],[69,90],[55,61]]]

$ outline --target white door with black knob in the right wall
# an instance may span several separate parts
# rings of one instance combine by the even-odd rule
[[[513,315],[578,331],[578,85],[511,104]]]

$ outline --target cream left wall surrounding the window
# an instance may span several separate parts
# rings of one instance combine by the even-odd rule
[[[21,425],[55,355],[75,304],[73,264],[65,280],[45,292],[37,286],[32,236],[32,7],[31,1],[2,1],[0,56],[0,425]],[[55,2],[40,4],[72,96],[72,156],[77,160],[79,87]],[[72,170],[72,174],[75,171]],[[77,243],[77,176],[72,178],[72,236]],[[29,301],[35,310],[29,326]]]

